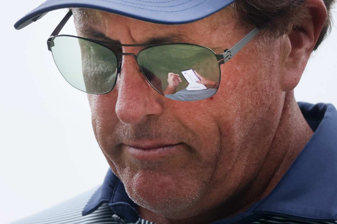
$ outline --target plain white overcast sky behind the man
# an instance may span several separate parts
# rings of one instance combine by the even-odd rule
[[[86,94],[63,79],[47,50],[46,40],[65,11],[50,12],[20,31],[13,28],[42,1],[1,2],[1,223],[98,186],[109,168],[92,132]],[[336,9],[333,14],[337,24]],[[73,32],[67,25],[62,33]],[[298,101],[337,105],[336,41],[334,25],[295,89]]]

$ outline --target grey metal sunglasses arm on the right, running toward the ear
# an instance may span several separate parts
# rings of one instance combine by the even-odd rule
[[[222,60],[219,64],[224,64],[229,59],[233,58],[234,55],[239,52],[251,39],[253,39],[259,31],[261,31],[261,27],[255,27],[252,31],[250,31],[244,38],[242,38],[239,42],[237,42],[231,49],[226,49],[223,54],[216,54],[218,60]]]

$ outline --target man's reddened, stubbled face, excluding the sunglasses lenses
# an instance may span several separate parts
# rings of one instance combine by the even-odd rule
[[[237,25],[228,8],[185,25],[98,11],[80,16],[75,13],[75,21],[84,37],[106,40],[95,30],[122,44],[192,43],[216,53],[253,29]],[[235,209],[234,201],[249,198],[242,192],[259,178],[283,107],[281,42],[250,41],[220,66],[217,93],[194,102],[160,95],[135,59],[124,56],[115,88],[88,98],[97,141],[133,201],[165,217],[185,218],[221,204]],[[123,51],[137,55],[141,49]]]

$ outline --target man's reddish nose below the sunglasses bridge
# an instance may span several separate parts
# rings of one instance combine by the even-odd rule
[[[116,114],[124,124],[137,124],[150,116],[161,114],[162,96],[148,83],[131,55],[124,56],[116,85]]]

